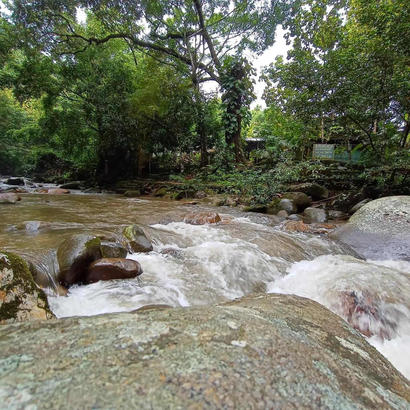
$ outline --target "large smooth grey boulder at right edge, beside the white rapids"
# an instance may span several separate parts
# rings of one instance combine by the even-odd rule
[[[328,237],[368,259],[410,260],[410,196],[371,201]]]

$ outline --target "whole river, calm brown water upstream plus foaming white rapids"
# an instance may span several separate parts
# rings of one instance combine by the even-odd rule
[[[144,269],[138,278],[75,285],[68,297],[48,289],[57,317],[131,311],[153,303],[212,305],[251,292],[296,294],[367,330],[369,342],[410,377],[410,262],[359,260],[325,235],[288,232],[274,218],[228,207],[217,208],[223,221],[215,225],[163,225],[164,217],[204,209],[162,198],[78,191],[21,196],[16,205],[0,207],[0,248],[32,260],[50,277],[58,269],[58,244],[74,233],[120,239],[123,226],[137,223],[154,246],[150,253],[128,255]],[[15,228],[28,220],[51,225]]]

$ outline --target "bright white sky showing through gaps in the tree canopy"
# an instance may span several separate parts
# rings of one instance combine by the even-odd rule
[[[0,1],[0,11],[2,12],[7,12],[7,9],[5,9],[4,4]],[[84,22],[86,19],[86,14],[83,9],[77,9],[77,19],[79,22]],[[262,55],[260,56],[249,56],[249,60],[251,61],[253,67],[257,71],[257,76],[256,76],[256,84],[255,84],[255,94],[257,96],[257,99],[251,104],[251,108],[256,107],[256,105],[262,105],[262,107],[265,107],[264,100],[262,100],[262,93],[265,87],[264,82],[259,81],[259,77],[261,74],[262,69],[265,66],[269,66],[270,63],[274,62],[276,59],[276,56],[282,55],[285,59],[287,56],[287,52],[290,49],[290,46],[286,45],[286,40],[284,39],[285,35],[285,30],[283,30],[282,26],[278,26],[276,28],[276,41],[273,44],[273,46],[269,47]],[[204,84],[204,89],[205,91],[214,91],[217,89],[217,86],[214,82],[208,81],[205,82]]]

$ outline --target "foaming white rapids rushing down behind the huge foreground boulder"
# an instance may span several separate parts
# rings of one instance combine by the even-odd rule
[[[359,260],[325,237],[252,219],[148,226],[154,251],[128,255],[144,269],[139,278],[73,286],[68,297],[49,298],[52,310],[67,317],[153,303],[212,305],[251,292],[296,294],[367,329],[368,341],[409,378],[410,262]]]

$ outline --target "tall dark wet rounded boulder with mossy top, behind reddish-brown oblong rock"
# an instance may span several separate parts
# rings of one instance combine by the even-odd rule
[[[83,233],[63,241],[57,249],[59,282],[65,287],[81,283],[87,266],[103,257],[100,238]]]

